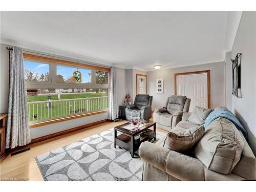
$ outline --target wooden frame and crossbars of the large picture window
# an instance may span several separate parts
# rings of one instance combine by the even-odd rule
[[[74,62],[69,60],[62,60],[62,59],[56,59],[56,58],[50,58],[50,57],[44,57],[39,55],[32,55],[32,54],[23,54],[24,60],[34,61],[34,62],[41,62],[49,64],[49,73],[50,73],[50,81],[49,82],[25,82],[26,89],[80,89],[80,88],[86,88],[86,89],[110,89],[110,68],[101,67],[101,66],[94,66],[90,65],[88,63],[83,62]],[[56,76],[57,76],[57,66],[65,66],[65,67],[79,67],[82,69],[88,69],[92,71],[92,83],[58,83],[56,82]],[[96,83],[95,78],[95,72],[96,71],[104,71],[108,72],[108,84],[98,84]],[[91,115],[97,115],[100,113],[106,113],[108,112],[108,109],[99,110],[99,111],[92,111],[87,113],[80,113],[76,115],[70,115],[70,116],[63,116],[56,119],[48,119],[46,121],[41,122],[34,122],[29,125],[30,129],[38,126],[44,126],[51,123],[57,123],[62,121],[67,121],[71,119],[91,116]]]

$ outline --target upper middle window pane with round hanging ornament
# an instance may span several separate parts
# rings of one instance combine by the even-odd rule
[[[74,76],[74,72],[77,71],[78,75]],[[91,74],[92,71],[88,69],[57,66],[57,82],[91,83]]]

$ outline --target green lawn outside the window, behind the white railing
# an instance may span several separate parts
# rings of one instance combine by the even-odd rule
[[[73,101],[63,101],[62,99],[76,99],[76,98],[90,98],[90,97],[103,97],[105,93],[96,94],[61,94],[60,100],[52,102],[51,106],[47,103],[29,104],[29,121],[43,120],[49,118],[56,118],[66,115],[79,114],[84,112],[96,111],[108,108],[108,99],[97,98],[79,99]],[[28,96],[27,101],[46,101],[48,96]],[[51,100],[57,100],[57,95],[52,95]]]

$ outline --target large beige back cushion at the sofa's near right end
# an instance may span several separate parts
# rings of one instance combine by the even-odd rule
[[[244,142],[237,127],[228,119],[212,121],[198,142],[194,154],[210,170],[228,174],[239,162]]]

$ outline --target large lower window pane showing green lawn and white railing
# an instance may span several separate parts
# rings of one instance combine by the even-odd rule
[[[27,89],[29,121],[108,109],[108,89]]]

